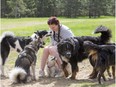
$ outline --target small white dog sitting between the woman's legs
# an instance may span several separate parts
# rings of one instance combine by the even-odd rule
[[[59,76],[60,72],[58,69],[58,65],[56,63],[56,57],[49,57],[46,64],[46,75],[47,77],[61,77]]]

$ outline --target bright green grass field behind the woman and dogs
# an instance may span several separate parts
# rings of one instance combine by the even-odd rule
[[[4,31],[13,31],[18,36],[30,36],[36,30],[48,30],[48,18],[17,18],[17,19],[1,19],[1,33]],[[99,25],[104,25],[112,30],[115,41],[115,18],[102,17],[97,19],[88,18],[59,18],[60,22],[67,25],[75,34],[75,36],[98,36],[91,33]]]

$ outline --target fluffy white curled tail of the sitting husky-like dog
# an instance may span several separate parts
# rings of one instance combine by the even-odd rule
[[[13,83],[20,83],[26,78],[26,71],[23,68],[15,67],[9,74],[9,78]]]

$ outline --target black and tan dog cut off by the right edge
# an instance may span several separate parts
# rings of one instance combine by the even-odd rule
[[[115,45],[96,45],[90,41],[84,42],[84,48],[89,53],[91,65],[98,71],[98,81],[101,84],[101,77],[106,78],[104,72],[112,66],[112,75],[115,78]],[[109,73],[109,72],[108,72]]]

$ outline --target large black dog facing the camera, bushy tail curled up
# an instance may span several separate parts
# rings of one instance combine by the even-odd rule
[[[87,53],[84,52],[84,41],[88,40],[96,44],[106,44],[111,38],[111,31],[104,26],[99,26],[94,31],[94,33],[101,33],[101,36],[71,37],[63,40],[58,44],[57,48],[59,55],[63,61],[63,70],[65,72],[65,76],[70,74],[69,78],[75,79],[76,72],[78,71],[77,63],[88,57]],[[71,65],[71,69],[67,70],[67,64]],[[68,73],[70,71],[71,73]],[[95,76],[97,76],[97,71],[95,71],[93,77]]]

